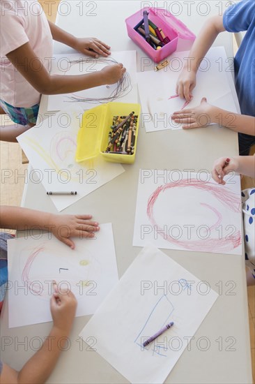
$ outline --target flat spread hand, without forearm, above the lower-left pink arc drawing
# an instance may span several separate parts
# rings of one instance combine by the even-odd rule
[[[94,232],[99,230],[98,223],[92,221],[91,218],[91,214],[54,214],[50,219],[49,230],[51,230],[61,242],[70,246],[71,249],[75,249],[75,243],[70,237],[94,237]]]

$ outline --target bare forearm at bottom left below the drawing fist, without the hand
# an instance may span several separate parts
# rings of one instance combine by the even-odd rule
[[[42,348],[26,362],[17,375],[17,383],[45,383],[52,373],[69,332],[52,328]]]

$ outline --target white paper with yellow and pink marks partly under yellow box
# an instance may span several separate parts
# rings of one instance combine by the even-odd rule
[[[125,171],[100,156],[84,163],[75,161],[81,119],[82,113],[59,112],[17,138],[33,166],[32,182],[37,175],[46,191],[77,191],[77,195],[49,196],[59,211]]]

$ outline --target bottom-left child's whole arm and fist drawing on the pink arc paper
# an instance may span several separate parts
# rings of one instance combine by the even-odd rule
[[[54,294],[50,302],[53,327],[42,348],[26,362],[20,372],[3,364],[1,383],[45,383],[52,373],[61,349],[59,341],[68,338],[75,318],[77,301],[72,292],[59,292],[54,285]]]

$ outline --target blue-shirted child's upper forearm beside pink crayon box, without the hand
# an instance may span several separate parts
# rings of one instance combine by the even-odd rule
[[[210,18],[210,20],[203,25],[190,50],[190,60],[185,64],[186,69],[194,71],[195,73],[198,71],[201,60],[205,57],[215,38],[217,38],[218,34],[222,31],[224,31],[224,27],[222,17],[220,16]]]

